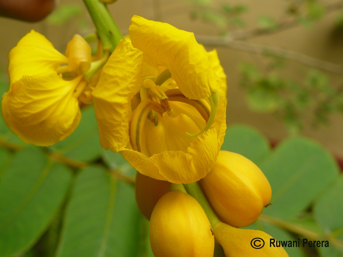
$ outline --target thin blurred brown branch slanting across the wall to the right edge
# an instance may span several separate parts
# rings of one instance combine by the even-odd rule
[[[295,51],[291,51],[288,49],[275,47],[275,46],[267,46],[262,44],[256,44],[247,41],[241,40],[232,40],[231,38],[224,38],[220,36],[197,36],[197,40],[199,43],[206,45],[206,46],[223,46],[228,47],[230,49],[235,49],[239,51],[245,51],[250,53],[257,53],[263,54],[265,52],[270,52],[273,56],[284,58],[287,60],[292,60],[313,68],[317,68],[323,71],[335,73],[335,74],[343,74],[343,67],[341,65],[337,65],[331,62],[319,60],[306,54],[298,53]]]

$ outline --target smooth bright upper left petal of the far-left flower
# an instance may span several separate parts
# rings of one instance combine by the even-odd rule
[[[9,54],[11,84],[22,76],[32,76],[54,71],[59,65],[68,63],[68,58],[57,51],[43,35],[31,30]]]

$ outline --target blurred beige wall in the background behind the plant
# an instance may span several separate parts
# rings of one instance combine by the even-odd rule
[[[61,0],[60,3],[80,3],[82,1],[67,1]],[[224,2],[224,1],[222,1]],[[261,14],[269,14],[279,19],[283,12],[284,4],[287,1],[282,0],[261,0],[261,1],[232,1],[243,2],[249,6],[246,19],[248,24],[253,25],[257,17]],[[327,3],[334,1],[325,1]],[[197,35],[216,35],[215,27],[204,24],[200,21],[192,21],[189,19],[189,6],[184,1],[173,0],[118,0],[114,5],[110,6],[120,29],[127,32],[130,24],[130,18],[133,14],[144,16],[148,19],[160,20],[168,22],[180,29],[185,29],[194,32]],[[286,30],[281,33],[261,36],[250,39],[250,42],[259,44],[267,44],[270,46],[278,46],[287,48],[296,52],[307,54],[311,57],[330,61],[341,65],[343,60],[343,34],[334,30],[333,24],[337,12],[333,12],[324,20],[318,22],[312,29],[305,27],[296,27]],[[7,55],[16,42],[30,29],[35,29],[43,33],[57,49],[64,48],[71,36],[79,32],[85,35],[92,30],[87,13],[84,14],[84,19],[89,23],[89,31],[83,29],[80,33],[77,21],[72,21],[66,26],[56,27],[50,26],[46,21],[29,24],[10,19],[0,18],[0,66],[7,69]],[[210,48],[208,48],[210,49]],[[287,136],[284,125],[277,121],[272,115],[259,114],[248,109],[244,100],[244,92],[239,88],[239,73],[237,65],[242,60],[245,61],[261,61],[259,56],[252,55],[246,52],[232,50],[225,47],[218,47],[222,65],[228,76],[228,107],[227,121],[232,123],[245,123],[256,127],[263,134],[272,140],[281,140]],[[288,74],[301,75],[305,71],[306,66],[289,62]],[[332,83],[343,83],[343,77],[332,76]],[[343,157],[343,115],[334,114],[330,117],[330,125],[321,127],[319,130],[313,130],[310,126],[304,131],[304,135],[317,139],[322,145],[328,147],[336,155]]]

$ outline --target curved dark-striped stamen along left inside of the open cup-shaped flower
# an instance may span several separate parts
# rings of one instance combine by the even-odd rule
[[[130,143],[132,149],[142,152],[146,156],[150,156],[147,144],[142,144],[143,129],[147,116],[152,109],[150,99],[143,100],[132,113],[132,120],[130,123]]]

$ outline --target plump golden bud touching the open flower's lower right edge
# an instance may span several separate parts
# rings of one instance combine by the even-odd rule
[[[234,227],[253,223],[272,194],[262,171],[249,159],[220,151],[200,185],[218,218]]]

